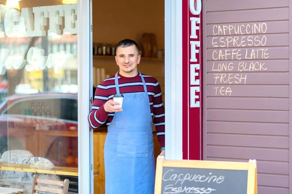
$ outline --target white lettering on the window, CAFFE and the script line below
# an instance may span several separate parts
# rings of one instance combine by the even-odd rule
[[[1,12],[0,9],[0,16]],[[4,18],[0,19],[0,24],[4,25],[4,29],[0,29],[0,38],[4,38],[5,34],[9,38],[77,34],[77,4],[22,8],[21,12],[17,9],[8,9]],[[44,49],[31,47],[25,59],[23,56],[13,54],[13,50],[2,48],[0,75],[4,75],[7,69],[22,68],[29,72],[54,68],[55,72],[58,72],[69,55],[68,51],[55,50],[54,53],[45,56]]]

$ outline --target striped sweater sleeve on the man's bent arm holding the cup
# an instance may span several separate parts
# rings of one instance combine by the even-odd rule
[[[92,129],[96,129],[104,125],[107,121],[109,113],[104,109],[104,104],[109,100],[108,92],[106,89],[102,89],[105,82],[101,82],[94,94],[93,105],[88,115],[89,125]]]

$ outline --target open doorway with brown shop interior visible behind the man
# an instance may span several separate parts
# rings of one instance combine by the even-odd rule
[[[92,2],[92,83],[93,92],[101,81],[118,71],[115,45],[123,39],[136,41],[141,62],[138,70],[153,76],[161,86],[164,103],[164,1],[137,0]],[[150,102],[151,103],[151,102]],[[153,124],[154,157],[160,154],[160,143]],[[94,194],[105,193],[104,143],[107,124],[93,129],[93,169],[99,172],[93,179]]]

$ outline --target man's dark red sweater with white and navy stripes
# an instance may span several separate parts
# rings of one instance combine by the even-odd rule
[[[161,147],[165,146],[165,112],[162,101],[161,88],[159,82],[151,77],[142,74],[147,87],[149,106],[153,123],[155,125],[156,134]],[[120,93],[142,93],[144,92],[143,82],[139,74],[132,78],[123,77],[118,73]],[[116,94],[114,75],[102,81],[95,90],[93,105],[88,115],[88,120],[92,129],[96,129],[103,125],[110,125],[114,113],[106,113],[103,104]]]

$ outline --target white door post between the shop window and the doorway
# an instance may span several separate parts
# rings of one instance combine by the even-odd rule
[[[92,130],[88,124],[91,108],[91,0],[77,3],[78,51],[78,190],[79,194],[93,194]]]

